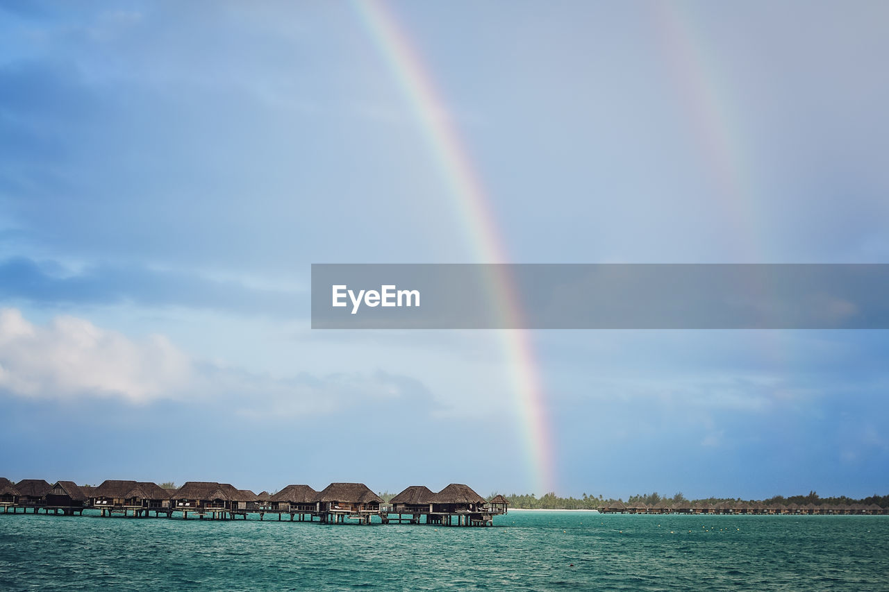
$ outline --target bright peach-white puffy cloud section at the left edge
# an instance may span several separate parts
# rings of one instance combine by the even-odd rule
[[[160,335],[134,341],[74,316],[37,326],[15,308],[0,308],[0,389],[15,395],[140,403],[180,393],[191,367]]]

